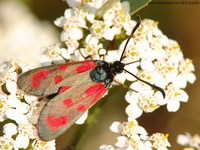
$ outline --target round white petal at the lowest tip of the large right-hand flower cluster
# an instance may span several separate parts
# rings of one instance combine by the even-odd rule
[[[130,104],[126,107],[125,112],[131,119],[136,119],[142,115],[143,111],[137,104]]]

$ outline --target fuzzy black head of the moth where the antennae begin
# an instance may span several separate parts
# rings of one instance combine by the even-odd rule
[[[122,73],[124,70],[124,64],[121,63],[120,61],[115,61],[114,63],[110,64],[111,72],[113,75]]]

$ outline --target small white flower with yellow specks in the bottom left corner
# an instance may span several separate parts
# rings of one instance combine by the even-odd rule
[[[0,137],[0,149],[1,150],[13,150],[14,148],[14,139],[7,136]]]

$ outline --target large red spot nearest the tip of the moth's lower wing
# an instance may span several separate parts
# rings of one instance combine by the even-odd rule
[[[46,116],[46,122],[49,128],[53,131],[58,130],[60,127],[66,125],[68,123],[68,116],[61,116],[56,118],[55,116]]]

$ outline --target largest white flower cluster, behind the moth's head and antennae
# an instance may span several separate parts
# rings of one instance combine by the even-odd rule
[[[98,18],[96,14],[103,5],[103,0],[67,2],[72,8],[66,9],[65,15],[55,21],[63,29],[61,40],[66,44],[66,52],[62,54],[63,48],[54,48],[45,55],[54,60],[62,57],[65,61],[87,58],[108,62],[119,60],[136,25],[129,14],[129,3],[116,2]],[[117,41],[119,47],[114,47],[113,41]],[[136,63],[131,63],[134,61]],[[130,74],[117,75],[116,79],[122,83],[125,80],[133,82],[130,88],[138,91],[130,90],[125,96],[129,103],[126,113],[131,119],[140,117],[143,112],[153,112],[162,105],[167,105],[169,112],[175,112],[179,109],[180,102],[188,101],[184,88],[188,82],[194,83],[196,80],[192,60],[184,58],[179,44],[159,30],[157,21],[142,20],[128,43],[122,62],[131,63],[125,69],[161,87],[166,93],[166,98],[163,99],[159,91],[143,82],[135,82],[137,80]]]

